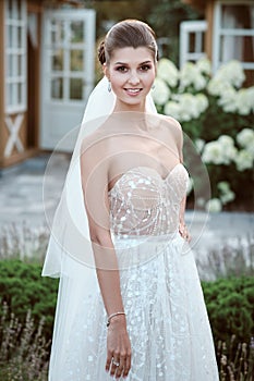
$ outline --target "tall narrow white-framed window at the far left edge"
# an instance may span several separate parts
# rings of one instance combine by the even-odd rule
[[[20,3],[20,13],[19,7]],[[24,112],[27,109],[27,13],[25,0],[5,0],[4,15],[4,58],[5,58],[5,112]],[[11,8],[11,14],[9,12]],[[20,30],[20,41],[19,41]],[[20,60],[20,73],[19,73]],[[12,72],[10,72],[12,70]]]

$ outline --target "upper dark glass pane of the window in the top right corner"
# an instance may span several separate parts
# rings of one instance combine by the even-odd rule
[[[222,5],[222,28],[253,28],[254,5]]]

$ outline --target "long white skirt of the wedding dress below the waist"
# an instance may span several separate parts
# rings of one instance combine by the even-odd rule
[[[124,380],[219,380],[194,256],[183,238],[176,233],[113,241],[132,346],[132,368]],[[95,269],[84,271],[83,263],[66,256],[49,381],[112,380],[105,371],[106,323]]]

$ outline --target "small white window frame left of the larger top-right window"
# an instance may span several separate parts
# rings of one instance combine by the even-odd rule
[[[203,49],[203,38],[207,30],[206,21],[184,21],[180,25],[180,67],[188,61],[198,61],[206,57]],[[190,51],[190,35],[194,34],[194,52]]]

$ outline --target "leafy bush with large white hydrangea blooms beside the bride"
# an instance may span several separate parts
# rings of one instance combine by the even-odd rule
[[[207,165],[211,200],[197,200],[210,211],[253,210],[254,86],[242,87],[244,71],[230,61],[211,73],[207,59],[186,62],[181,70],[170,60],[158,62],[153,97],[158,112],[176,118]],[[184,164],[190,173],[195,163]],[[192,173],[191,173],[192,175]],[[195,184],[195,183],[194,183]],[[195,184],[196,185],[196,184]],[[194,193],[189,200],[193,205]]]

